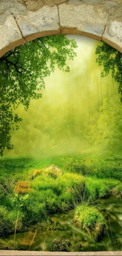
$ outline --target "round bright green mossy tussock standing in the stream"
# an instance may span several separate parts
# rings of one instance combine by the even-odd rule
[[[96,240],[104,235],[105,218],[96,207],[83,203],[77,206],[74,215],[74,222],[82,229],[93,231]]]

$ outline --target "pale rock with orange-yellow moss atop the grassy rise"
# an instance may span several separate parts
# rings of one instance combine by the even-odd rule
[[[63,171],[61,169],[58,168],[58,166],[51,164],[49,167],[45,168],[45,169],[35,169],[33,171],[33,176],[32,178],[35,178],[37,175],[48,175],[51,176],[52,178],[57,178],[59,175],[63,174]]]

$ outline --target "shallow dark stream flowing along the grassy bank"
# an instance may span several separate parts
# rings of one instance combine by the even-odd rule
[[[73,222],[74,211],[57,213],[50,216],[50,225],[46,231],[37,230],[31,251],[49,251],[49,246],[56,238],[71,241],[69,251],[116,251],[122,248],[122,200],[114,197],[99,199],[97,207],[106,216],[106,233],[99,242]],[[28,250],[36,229],[16,234],[16,250]],[[3,239],[13,248],[14,234]]]

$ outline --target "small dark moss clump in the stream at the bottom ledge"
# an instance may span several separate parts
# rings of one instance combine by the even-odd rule
[[[52,244],[49,246],[50,251],[67,251],[67,243],[65,243],[65,240],[54,239]]]

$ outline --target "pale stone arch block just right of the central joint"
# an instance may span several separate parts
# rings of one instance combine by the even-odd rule
[[[59,5],[60,26],[102,37],[108,14],[97,5]]]

